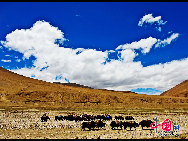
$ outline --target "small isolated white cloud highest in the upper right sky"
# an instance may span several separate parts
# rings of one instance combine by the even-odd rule
[[[166,24],[167,21],[163,22],[163,20],[161,20],[161,16],[157,16],[157,17],[153,17],[152,14],[148,14],[143,16],[139,22],[138,22],[138,26],[143,26],[144,23],[148,23],[148,24],[155,24],[157,25],[156,29],[161,31],[161,25]]]

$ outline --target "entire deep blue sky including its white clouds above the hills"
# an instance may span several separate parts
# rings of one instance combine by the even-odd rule
[[[188,78],[187,3],[1,2],[0,6],[0,66],[19,74],[147,94],[159,94]],[[32,27],[45,29],[38,31],[39,37]],[[61,49],[50,48],[56,45]]]

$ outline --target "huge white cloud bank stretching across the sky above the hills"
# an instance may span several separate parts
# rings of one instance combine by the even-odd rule
[[[8,34],[3,42],[5,47],[23,53],[25,58],[31,55],[36,58],[32,68],[12,71],[49,82],[66,82],[65,79],[68,79],[72,83],[93,88],[126,91],[136,88],[164,91],[188,78],[188,58],[147,67],[143,67],[140,61],[133,61],[138,55],[135,49],[148,53],[157,43],[158,39],[153,37],[105,52],[59,47],[55,44],[57,39],[65,40],[63,32],[45,21],[36,22],[30,29],[15,30]],[[104,64],[109,52],[116,51],[120,59],[111,59]],[[59,80],[56,80],[57,76]]]

